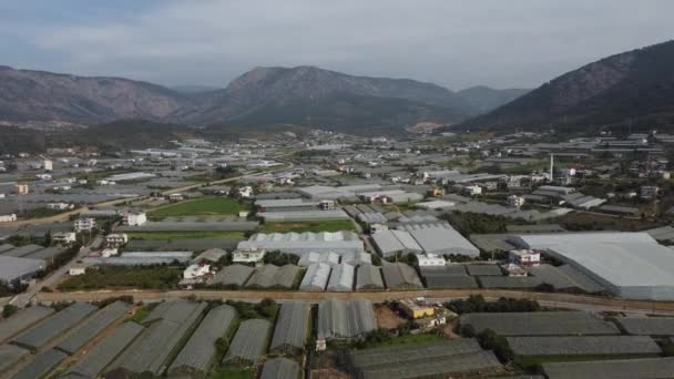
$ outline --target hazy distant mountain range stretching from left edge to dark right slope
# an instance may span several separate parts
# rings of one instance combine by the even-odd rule
[[[353,76],[314,66],[256,68],[221,90],[0,69],[0,119],[13,122],[142,119],[401,130],[417,122],[457,123],[513,95],[491,89],[464,94],[409,79]]]

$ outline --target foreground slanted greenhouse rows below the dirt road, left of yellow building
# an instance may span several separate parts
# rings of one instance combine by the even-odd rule
[[[272,373],[278,370],[297,378],[313,325],[304,301],[282,304],[270,319],[244,319],[226,304],[178,299],[124,321],[131,308],[116,301],[102,308],[74,303],[57,313],[41,306],[21,310],[0,322],[0,371],[43,378],[76,357],[64,371],[71,378],[205,376],[217,366],[261,367],[262,378],[276,378]],[[317,327],[319,338],[341,339],[375,330],[377,321],[370,301],[328,300],[318,305]],[[277,358],[266,359],[267,354]]]

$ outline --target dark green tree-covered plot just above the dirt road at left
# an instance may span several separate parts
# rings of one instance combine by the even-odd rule
[[[112,288],[175,288],[183,269],[171,266],[101,266],[90,268],[83,275],[69,277],[59,285],[61,290]]]

